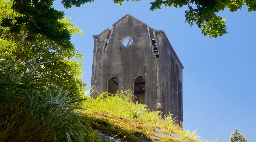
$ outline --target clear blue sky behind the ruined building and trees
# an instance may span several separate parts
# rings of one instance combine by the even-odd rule
[[[255,48],[256,12],[247,7],[238,12],[219,12],[227,19],[228,34],[207,38],[197,25],[185,23],[185,10],[162,7],[150,11],[152,1],[124,2],[94,1],[80,8],[64,9],[60,1],[55,9],[71,17],[84,35],[72,36],[75,48],[84,55],[82,70],[87,88],[91,84],[93,42],[98,35],[127,13],[156,30],[164,30],[183,69],[183,126],[198,130],[201,138],[228,141],[237,128],[248,142],[256,138]],[[98,82],[97,82],[98,83]]]

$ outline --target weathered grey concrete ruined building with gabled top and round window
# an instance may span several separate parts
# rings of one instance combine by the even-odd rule
[[[182,122],[182,69],[164,31],[130,14],[94,35],[92,90],[114,94],[131,89],[134,102],[172,112]],[[92,92],[91,97],[99,94]],[[157,104],[158,103],[158,104]]]

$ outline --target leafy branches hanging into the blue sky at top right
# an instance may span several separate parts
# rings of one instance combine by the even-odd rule
[[[248,6],[248,12],[256,10],[255,0],[155,0],[150,3],[150,10],[161,9],[161,6],[173,6],[175,8],[188,5],[189,10],[185,11],[186,22],[193,25],[196,23],[202,34],[207,37],[216,38],[226,33],[226,19],[217,16],[219,11],[228,8],[231,12],[241,9],[243,5]],[[193,6],[195,8],[193,8]]]

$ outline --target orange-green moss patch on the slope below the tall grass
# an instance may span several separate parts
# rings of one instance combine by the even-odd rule
[[[155,128],[147,126],[143,121],[137,119],[128,119],[123,116],[109,116],[105,111],[80,110],[84,120],[90,124],[93,129],[99,129],[102,133],[127,141],[140,141],[136,137],[153,141],[148,134],[154,134]]]

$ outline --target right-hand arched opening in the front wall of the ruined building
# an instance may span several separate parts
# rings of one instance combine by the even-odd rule
[[[139,76],[134,80],[134,103],[145,104],[145,79]]]

